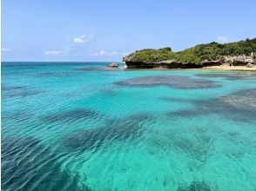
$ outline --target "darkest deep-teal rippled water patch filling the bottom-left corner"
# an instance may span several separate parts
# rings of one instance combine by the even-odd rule
[[[2,138],[3,190],[90,190],[61,170],[58,155],[33,137]]]

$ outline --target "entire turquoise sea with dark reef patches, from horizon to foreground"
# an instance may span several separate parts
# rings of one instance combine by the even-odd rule
[[[2,63],[3,190],[255,190],[256,73]]]

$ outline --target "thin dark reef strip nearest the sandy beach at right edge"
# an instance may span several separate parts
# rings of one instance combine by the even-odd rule
[[[253,76],[245,76],[245,75],[233,75],[233,74],[220,74],[220,73],[216,73],[216,74],[196,74],[195,76],[199,76],[199,77],[220,77],[220,78],[225,78],[227,80],[251,80],[251,79],[255,79],[255,77],[253,78]]]

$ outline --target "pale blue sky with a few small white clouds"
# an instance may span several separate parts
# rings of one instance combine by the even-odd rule
[[[256,37],[255,0],[2,0],[2,61],[121,61]]]

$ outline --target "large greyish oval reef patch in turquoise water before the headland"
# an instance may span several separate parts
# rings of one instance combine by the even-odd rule
[[[206,89],[220,86],[211,80],[201,80],[186,76],[143,76],[115,82],[115,84],[128,87],[165,86],[174,89]]]

